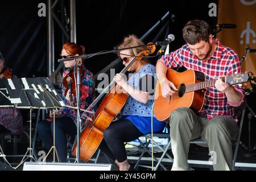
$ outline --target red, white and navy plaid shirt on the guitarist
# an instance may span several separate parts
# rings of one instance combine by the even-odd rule
[[[213,39],[213,43],[217,44],[217,48],[209,59],[197,59],[197,57],[190,51],[188,45],[185,44],[180,49],[162,56],[160,61],[162,61],[168,68],[184,66],[187,69],[203,72],[206,81],[216,79],[216,77],[222,75],[230,76],[236,73],[241,73],[240,60],[237,53],[228,47],[222,46],[217,39]],[[238,104],[230,104],[225,93],[218,92],[218,90],[212,86],[207,88],[207,91],[205,92],[204,106],[199,112],[199,115],[207,117],[208,120],[217,115],[224,115],[237,121],[234,107],[241,105],[245,94],[241,87],[235,85],[233,85],[233,87],[237,92],[241,93],[242,96],[242,99]]]

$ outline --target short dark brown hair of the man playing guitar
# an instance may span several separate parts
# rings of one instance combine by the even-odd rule
[[[201,40],[209,42],[210,34],[210,26],[203,20],[191,20],[183,28],[183,39],[191,45],[195,45]]]

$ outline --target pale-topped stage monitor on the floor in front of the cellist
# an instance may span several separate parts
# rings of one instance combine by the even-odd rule
[[[26,162],[23,171],[116,171],[112,164]]]

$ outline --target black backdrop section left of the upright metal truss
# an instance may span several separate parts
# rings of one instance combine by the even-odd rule
[[[46,76],[46,18],[39,18],[44,1],[2,1],[0,52],[18,77]]]

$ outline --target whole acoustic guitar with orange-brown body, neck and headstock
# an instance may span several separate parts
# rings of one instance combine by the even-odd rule
[[[179,73],[173,69],[168,69],[166,77],[173,82],[177,92],[171,97],[162,96],[162,89],[159,81],[155,90],[155,117],[160,121],[169,122],[170,114],[179,107],[188,107],[195,112],[200,111],[204,105],[204,96],[206,88],[214,86],[216,80],[205,81],[205,75],[202,72],[188,69]],[[240,73],[222,78],[222,80],[230,85],[240,84],[248,81],[247,73]]]

